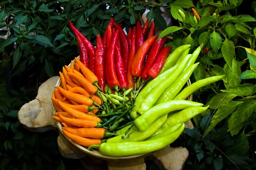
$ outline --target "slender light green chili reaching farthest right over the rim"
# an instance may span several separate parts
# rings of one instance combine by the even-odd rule
[[[197,82],[194,82],[192,85],[189,85],[188,87],[184,88],[183,91],[180,92],[180,94],[178,94],[174,100],[176,99],[186,99],[188,96],[190,96],[194,91],[212,84],[214,82],[218,82],[219,80],[223,79],[225,77],[225,75],[222,76],[212,76],[212,77],[208,77],[206,79],[201,79],[198,80]]]

